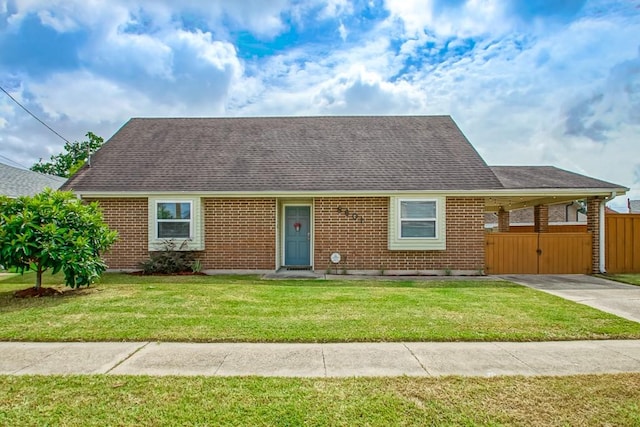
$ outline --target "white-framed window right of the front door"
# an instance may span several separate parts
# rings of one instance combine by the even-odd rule
[[[401,239],[437,238],[437,211],[435,200],[400,199],[400,221],[398,221]]]

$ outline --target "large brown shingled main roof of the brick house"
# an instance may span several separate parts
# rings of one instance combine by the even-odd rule
[[[448,116],[136,118],[65,185],[76,191],[502,188]]]

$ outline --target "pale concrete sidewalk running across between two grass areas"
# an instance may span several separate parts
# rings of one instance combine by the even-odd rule
[[[0,342],[0,374],[495,376],[640,372],[640,340],[538,343]]]

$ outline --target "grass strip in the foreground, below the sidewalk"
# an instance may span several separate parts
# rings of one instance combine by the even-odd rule
[[[0,376],[1,425],[637,426],[640,374],[495,378]]]

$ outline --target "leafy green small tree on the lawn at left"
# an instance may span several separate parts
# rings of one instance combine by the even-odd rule
[[[88,286],[105,271],[100,253],[116,238],[98,204],[83,204],[71,192],[0,197],[0,264],[34,270],[36,289],[48,269],[62,270],[67,286]]]

